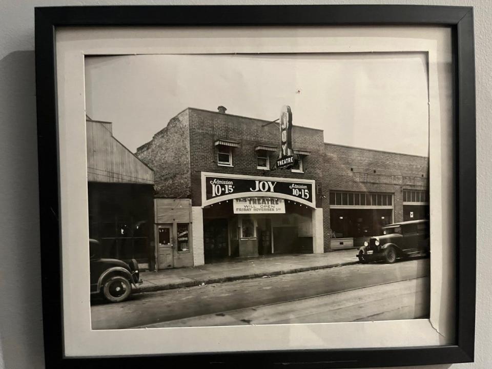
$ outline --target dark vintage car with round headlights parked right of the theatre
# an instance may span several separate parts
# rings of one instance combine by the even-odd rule
[[[385,261],[429,254],[429,221],[410,220],[388,224],[381,236],[374,236],[359,248],[357,257],[362,263]]]

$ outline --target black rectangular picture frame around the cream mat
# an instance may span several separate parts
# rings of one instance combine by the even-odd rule
[[[377,367],[474,360],[476,285],[476,130],[473,8],[444,6],[97,6],[35,9],[43,324],[48,368]],[[454,148],[457,240],[456,344],[326,351],[240,352],[118,358],[65,358],[61,316],[59,168],[55,30],[65,26],[443,25],[455,61]]]

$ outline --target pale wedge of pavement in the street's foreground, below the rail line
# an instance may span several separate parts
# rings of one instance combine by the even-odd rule
[[[424,319],[429,316],[429,297],[429,277],[420,277],[136,328]]]

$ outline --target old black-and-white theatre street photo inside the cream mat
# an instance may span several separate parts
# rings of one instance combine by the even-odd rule
[[[429,318],[427,63],[86,57],[92,329]]]

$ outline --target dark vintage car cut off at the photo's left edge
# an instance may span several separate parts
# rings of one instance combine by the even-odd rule
[[[100,294],[109,302],[125,301],[132,293],[132,284],[141,283],[138,263],[101,258],[101,245],[89,240],[91,295]]]

